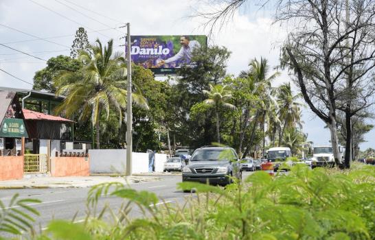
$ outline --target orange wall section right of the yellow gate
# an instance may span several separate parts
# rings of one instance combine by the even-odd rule
[[[85,160],[87,159],[87,160]],[[51,158],[51,176],[89,176],[89,158],[84,157],[54,157]]]

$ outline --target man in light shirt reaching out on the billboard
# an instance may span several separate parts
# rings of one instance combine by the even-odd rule
[[[194,51],[194,49],[200,48],[201,44],[198,43],[197,40],[190,40],[189,36],[181,36],[180,44],[180,51],[171,58],[160,60],[160,62],[157,64],[157,67],[161,67],[161,65],[166,63],[176,62],[177,60],[182,60],[184,64],[190,64],[190,62],[192,61],[192,52]]]

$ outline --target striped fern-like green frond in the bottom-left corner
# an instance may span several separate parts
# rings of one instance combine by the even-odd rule
[[[22,232],[32,231],[33,215],[40,215],[30,204],[38,204],[40,200],[19,199],[19,194],[13,195],[8,206],[0,200],[0,232],[21,235]]]

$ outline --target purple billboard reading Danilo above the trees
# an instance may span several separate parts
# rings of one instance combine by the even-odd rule
[[[155,74],[174,74],[181,66],[194,67],[192,52],[207,47],[205,35],[131,36],[132,61]]]

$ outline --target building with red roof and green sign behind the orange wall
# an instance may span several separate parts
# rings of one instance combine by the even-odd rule
[[[0,154],[21,154],[22,137],[29,154],[91,148],[89,141],[73,141],[73,121],[52,115],[63,100],[53,93],[0,87]]]

